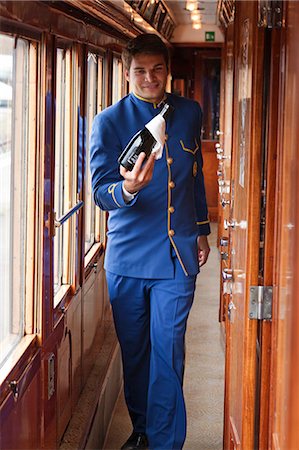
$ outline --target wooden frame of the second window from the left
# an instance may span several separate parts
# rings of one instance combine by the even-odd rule
[[[79,136],[78,136],[78,130],[79,130],[79,105],[80,105],[80,77],[82,77],[81,74],[81,67],[79,64],[79,45],[76,42],[71,42],[66,39],[55,39],[55,45],[54,45],[54,67],[53,67],[53,78],[55,83],[55,103],[57,104],[57,54],[58,50],[62,49],[66,53],[66,56],[68,57],[68,61],[66,61],[66,69],[68,70],[70,80],[69,84],[67,86],[69,92],[66,92],[68,95],[67,101],[64,103],[64,108],[67,112],[67,125],[69,128],[69,133],[64,133],[64,138],[67,139],[66,145],[68,146],[68,166],[69,171],[66,174],[66,183],[64,184],[64,187],[66,187],[66,195],[64,195],[64,201],[68,203],[69,207],[73,207],[77,201],[79,200],[78,196],[78,153],[80,149],[79,145]],[[67,73],[66,73],[67,77]],[[74,94],[76,94],[76,97],[74,97]],[[56,145],[57,145],[57,133],[56,133],[56,121],[57,121],[57,109],[54,110],[54,121],[53,121],[53,127],[54,127],[54,140],[53,140],[53,211],[54,211],[54,221],[57,220],[58,217],[55,217],[55,190],[56,190],[56,184],[55,184],[55,156],[56,156]],[[65,136],[66,135],[66,136]],[[64,144],[65,145],[65,144]],[[75,174],[75,176],[72,178],[72,174]],[[63,212],[65,214],[68,209]],[[69,220],[67,220],[63,225],[63,228],[58,228],[58,233],[61,232],[62,239],[64,238],[63,242],[63,249],[62,253],[64,258],[63,262],[63,269],[62,269],[62,280],[61,284],[59,285],[59,288],[57,291],[54,291],[54,270],[55,270],[55,224],[54,224],[54,230],[53,230],[53,309],[56,310],[63,310],[65,303],[72,297],[72,295],[76,291],[76,285],[78,280],[78,273],[77,273],[77,267],[76,267],[76,257],[79,253],[79,247],[78,247],[78,236],[77,236],[77,213],[74,214],[72,217],[70,217]],[[60,253],[61,254],[61,253]],[[60,257],[58,258],[60,259]],[[57,316],[57,314],[55,314]]]

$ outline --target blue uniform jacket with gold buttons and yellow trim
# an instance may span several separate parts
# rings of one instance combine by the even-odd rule
[[[105,269],[137,278],[172,278],[175,251],[186,275],[199,271],[197,237],[210,233],[197,102],[167,94],[174,111],[153,178],[125,203],[117,159],[161,108],[131,93],[98,114],[90,138],[95,203],[109,211]]]

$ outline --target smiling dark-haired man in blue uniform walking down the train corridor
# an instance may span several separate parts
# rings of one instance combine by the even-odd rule
[[[197,102],[165,92],[168,51],[154,34],[123,52],[131,92],[95,117],[94,199],[109,211],[105,269],[133,433],[122,449],[181,449],[186,437],[184,339],[196,275],[209,254]],[[118,165],[131,137],[167,101],[162,158]]]

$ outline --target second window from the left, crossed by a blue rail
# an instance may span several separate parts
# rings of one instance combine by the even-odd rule
[[[71,48],[56,51],[54,211],[56,220],[76,205],[79,68]],[[54,306],[60,289],[74,283],[76,215],[56,228],[54,237]],[[60,292],[59,292],[60,291]]]

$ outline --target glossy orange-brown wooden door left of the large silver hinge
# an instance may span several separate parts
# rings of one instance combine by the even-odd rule
[[[249,289],[258,284],[263,34],[257,2],[236,2],[231,180],[232,302],[226,352],[225,449],[254,448],[257,323]]]

